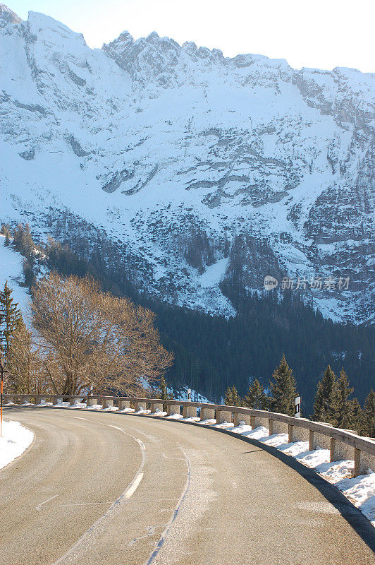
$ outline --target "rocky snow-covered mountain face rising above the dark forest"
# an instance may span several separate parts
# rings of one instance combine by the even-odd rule
[[[272,275],[327,317],[369,323],[375,74],[155,32],[90,49],[4,5],[0,26],[1,221],[42,237],[65,210],[168,302],[234,314],[225,289],[266,292]]]

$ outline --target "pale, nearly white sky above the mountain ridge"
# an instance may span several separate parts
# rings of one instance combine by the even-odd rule
[[[128,30],[216,47],[227,57],[255,53],[302,66],[375,72],[374,0],[8,0],[27,19],[42,12],[102,47]]]

